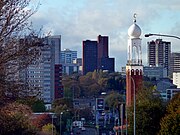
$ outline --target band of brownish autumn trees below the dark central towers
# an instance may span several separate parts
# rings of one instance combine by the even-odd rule
[[[63,76],[65,97],[98,97],[101,92],[120,92],[125,88],[125,79],[119,73],[102,70],[88,72],[84,76]]]

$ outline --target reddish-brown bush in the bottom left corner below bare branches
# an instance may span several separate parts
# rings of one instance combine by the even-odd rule
[[[0,109],[1,135],[27,134],[35,135],[37,129],[30,121],[31,108],[19,104],[9,103]]]

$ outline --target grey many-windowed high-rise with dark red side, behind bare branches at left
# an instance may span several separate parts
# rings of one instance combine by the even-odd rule
[[[40,90],[40,99],[51,103],[54,99],[63,97],[61,36],[45,37],[43,44],[40,48],[41,55],[23,71],[23,78],[29,86]]]

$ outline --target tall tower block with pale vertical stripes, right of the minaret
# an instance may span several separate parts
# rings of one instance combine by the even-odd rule
[[[156,39],[148,44],[148,64],[149,66],[162,66],[170,73],[171,42]]]

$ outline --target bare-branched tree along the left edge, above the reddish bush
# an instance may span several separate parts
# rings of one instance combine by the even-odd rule
[[[37,8],[29,9],[31,0],[0,1],[0,104],[31,94],[19,73],[39,56],[42,40],[28,23]],[[26,36],[31,38],[25,38]],[[27,91],[28,89],[28,91]]]

